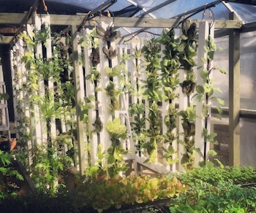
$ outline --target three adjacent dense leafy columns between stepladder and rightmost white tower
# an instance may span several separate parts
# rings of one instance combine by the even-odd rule
[[[185,169],[192,169],[194,164],[195,151],[195,109],[190,104],[192,93],[195,91],[195,71],[193,67],[197,65],[194,58],[197,54],[197,39],[195,23],[190,24],[189,21],[182,23],[182,32],[180,39],[175,39],[173,30],[164,30],[162,35],[157,39],[151,39],[142,48],[145,58],[146,80],[143,82],[143,96],[147,99],[149,106],[149,114],[146,120],[149,128],[146,130],[145,136],[149,139],[144,142],[143,148],[148,152],[149,162],[155,162],[157,157],[157,143],[167,143],[164,148],[167,162],[176,163],[178,158],[173,159],[176,150],[172,147],[172,142],[177,139],[174,129],[176,128],[176,120],[178,115],[181,116],[181,123],[184,128],[184,145],[186,152],[183,153],[181,159]],[[161,45],[164,55],[161,61]],[[184,82],[179,82],[179,70],[185,70]],[[188,106],[182,112],[177,112],[174,101],[178,98],[176,89],[181,86],[182,92],[187,96]],[[163,93],[162,93],[163,90]],[[159,112],[159,102],[167,101],[169,104],[168,115],[163,118],[167,126],[167,133],[160,136],[162,129],[162,118]],[[180,132],[181,133],[181,132]]]

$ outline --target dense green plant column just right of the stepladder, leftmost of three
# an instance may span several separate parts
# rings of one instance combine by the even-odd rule
[[[162,101],[162,82],[159,75],[160,50],[160,44],[157,39],[149,40],[141,50],[146,60],[146,80],[141,80],[141,82],[144,84],[143,88],[145,91],[143,96],[147,98],[149,109],[148,118],[146,118],[149,128],[146,129],[145,133],[148,141],[143,144],[143,148],[148,153],[146,162],[156,162],[157,142],[162,139],[162,136],[160,136],[160,130],[162,128],[161,112],[157,105],[159,101]]]

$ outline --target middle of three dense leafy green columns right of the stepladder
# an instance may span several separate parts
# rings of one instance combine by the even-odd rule
[[[176,129],[178,114],[174,101],[178,98],[176,89],[179,85],[178,69],[181,66],[179,61],[180,51],[178,50],[179,40],[175,39],[174,30],[164,30],[160,43],[165,46],[165,50],[162,51],[165,56],[161,61],[162,85],[165,93],[164,100],[169,104],[168,114],[164,117],[164,123],[167,126],[164,143],[167,144],[167,148],[162,147],[162,149],[165,151],[163,157],[167,160],[167,163],[173,164],[178,161],[178,158],[173,159],[173,154],[176,153],[173,142],[177,139],[174,130]]]

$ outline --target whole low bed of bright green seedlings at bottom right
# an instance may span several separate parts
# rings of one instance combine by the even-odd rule
[[[256,212],[256,182],[252,167],[198,168],[180,174],[188,190],[170,202],[170,212]]]

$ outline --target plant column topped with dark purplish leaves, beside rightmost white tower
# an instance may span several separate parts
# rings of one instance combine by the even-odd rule
[[[178,50],[179,61],[181,68],[184,69],[186,77],[183,82],[180,82],[182,93],[187,96],[187,109],[178,113],[181,116],[181,125],[184,131],[184,141],[179,140],[179,143],[184,145],[185,153],[181,158],[181,165],[186,170],[193,168],[195,158],[195,109],[190,103],[192,94],[196,88],[196,74],[193,68],[197,65],[194,58],[197,55],[197,38],[196,38],[196,24],[184,20],[181,26],[182,35],[181,43]]]

